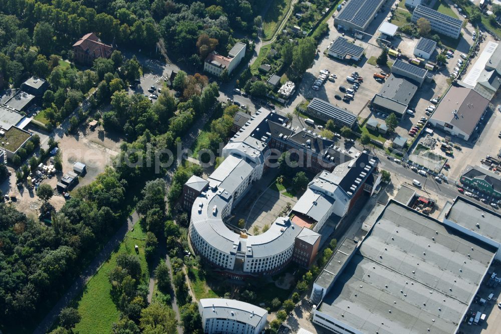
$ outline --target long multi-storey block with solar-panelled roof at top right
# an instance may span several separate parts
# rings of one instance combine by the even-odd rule
[[[418,5],[412,13],[412,22],[420,18],[430,22],[431,30],[452,38],[459,38],[463,22],[448,15],[442,14],[423,5]]]

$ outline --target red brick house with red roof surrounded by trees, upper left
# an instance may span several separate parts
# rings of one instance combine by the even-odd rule
[[[92,65],[94,59],[109,58],[113,52],[113,46],[104,44],[94,33],[84,35],[78,42],[73,44],[75,62]]]

